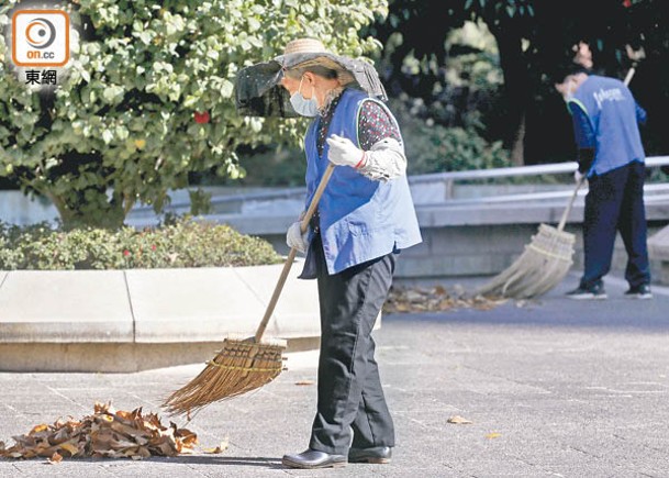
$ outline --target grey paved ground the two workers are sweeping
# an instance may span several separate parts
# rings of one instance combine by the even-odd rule
[[[387,316],[377,342],[398,434],[389,465],[282,468],[283,453],[305,447],[313,415],[315,387],[296,385],[315,379],[313,354],[302,354],[274,383],[194,418],[203,447],[230,437],[221,455],[0,462],[0,476],[668,477],[669,289],[633,301],[610,280],[607,301],[566,300],[575,284],[522,307]],[[157,411],[200,368],[0,374],[0,440],[89,414],[96,400]]]

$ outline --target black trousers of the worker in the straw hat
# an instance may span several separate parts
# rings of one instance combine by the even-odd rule
[[[319,281],[321,356],[309,446],[337,455],[346,455],[349,446],[394,446],[371,338],[392,282],[394,254],[330,276],[319,234],[311,247]]]

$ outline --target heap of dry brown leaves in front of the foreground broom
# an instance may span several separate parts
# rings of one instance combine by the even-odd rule
[[[53,425],[36,425],[26,435],[14,436],[14,446],[0,442],[0,457],[46,457],[57,463],[64,457],[110,457],[142,459],[152,455],[176,456],[192,452],[194,433],[170,423],[163,426],[158,415],[115,411],[111,403],[96,403],[94,413],[81,421],[59,419]]]

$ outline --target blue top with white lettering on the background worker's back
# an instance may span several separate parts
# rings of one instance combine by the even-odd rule
[[[632,162],[645,160],[638,129],[646,112],[629,89],[615,78],[590,76],[568,101],[579,148],[593,148],[588,171],[603,175]]]

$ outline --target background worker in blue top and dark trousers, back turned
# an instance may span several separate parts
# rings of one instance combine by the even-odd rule
[[[611,268],[616,232],[621,233],[629,284],[627,297],[650,299],[646,213],[645,153],[639,124],[646,112],[615,78],[590,75],[569,64],[556,78],[571,113],[578,148],[577,181],[587,178],[583,219],[584,271],[571,299],[605,299],[603,277]]]

